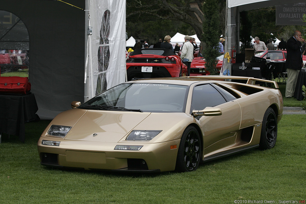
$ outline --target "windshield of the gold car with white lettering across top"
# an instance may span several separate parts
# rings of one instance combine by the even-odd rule
[[[183,112],[188,86],[162,83],[123,83],[79,108],[139,112]]]

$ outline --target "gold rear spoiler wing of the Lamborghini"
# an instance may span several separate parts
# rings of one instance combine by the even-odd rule
[[[265,83],[272,83],[274,84],[275,88],[279,88],[278,84],[276,81],[270,81],[270,80],[265,80],[265,79],[257,79],[254,77],[246,77],[246,76],[218,76],[218,75],[211,75],[211,76],[182,76],[185,78],[200,78],[200,79],[208,79],[208,80],[213,80],[213,79],[222,79],[222,80],[248,80],[247,84],[250,85],[256,85],[256,81],[261,81]]]

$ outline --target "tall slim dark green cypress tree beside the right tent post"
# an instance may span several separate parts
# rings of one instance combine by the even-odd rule
[[[205,68],[210,72],[211,75],[215,75],[215,68],[217,65],[217,57],[219,55],[218,47],[219,35],[218,35],[218,24],[219,12],[218,12],[217,0],[207,0],[203,4],[203,13],[205,20],[203,21],[203,41],[206,43],[204,47],[205,56]]]

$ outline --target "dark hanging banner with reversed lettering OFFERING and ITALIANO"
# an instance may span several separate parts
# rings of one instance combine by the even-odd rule
[[[302,21],[306,13],[306,3],[291,3],[276,7],[276,25],[305,25]]]

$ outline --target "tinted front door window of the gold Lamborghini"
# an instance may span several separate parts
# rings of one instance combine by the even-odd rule
[[[225,98],[210,84],[198,85],[193,89],[191,109],[202,110],[225,102]]]

